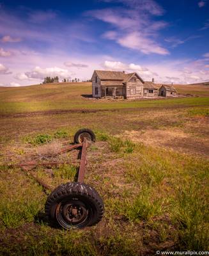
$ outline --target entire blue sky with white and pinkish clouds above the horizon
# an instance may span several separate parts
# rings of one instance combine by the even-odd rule
[[[208,81],[208,45],[208,0],[0,0],[0,86],[94,69]]]

